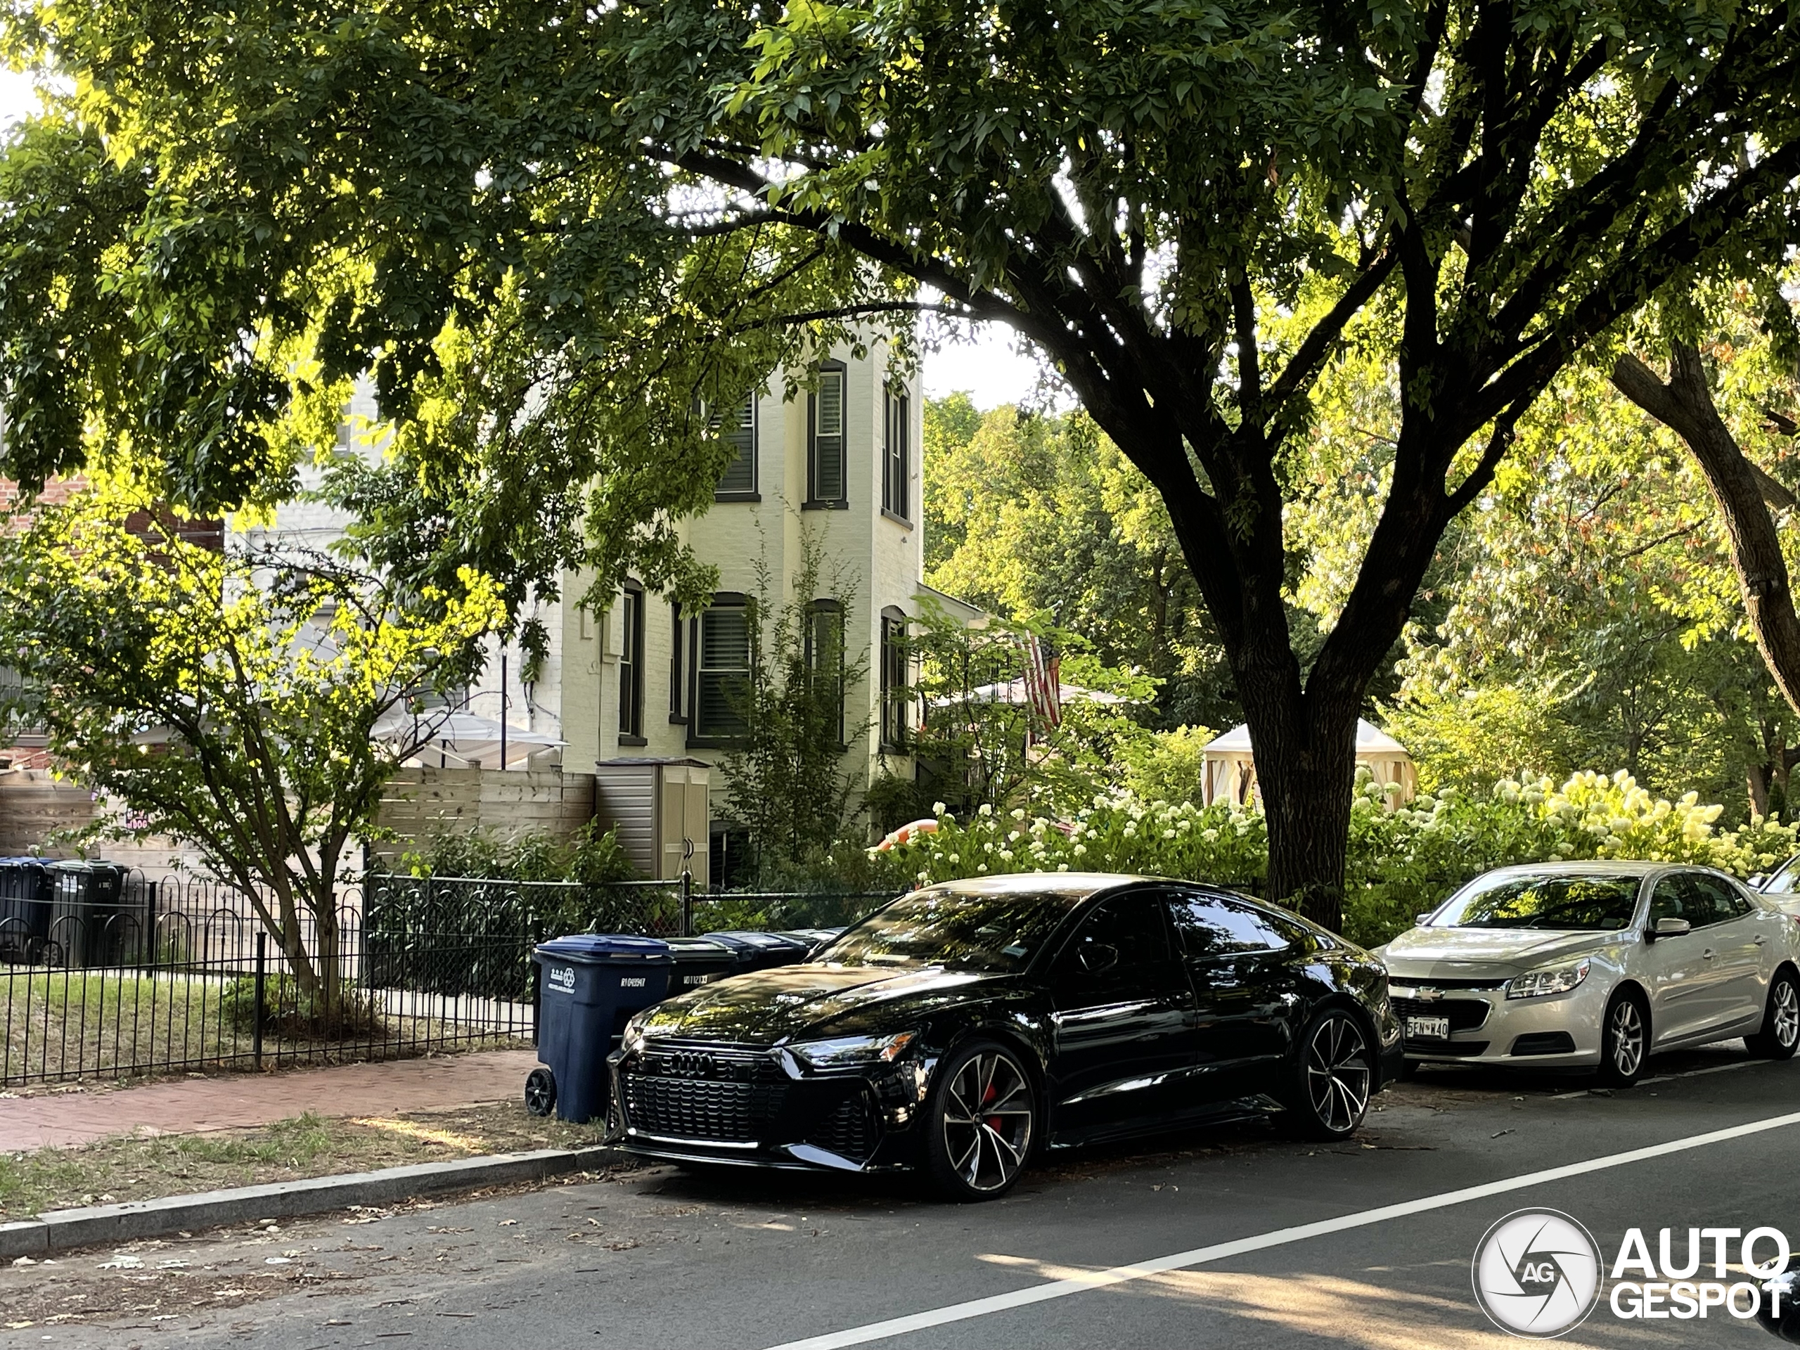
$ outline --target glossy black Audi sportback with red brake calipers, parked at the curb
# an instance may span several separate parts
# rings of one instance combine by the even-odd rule
[[[1276,1107],[1339,1139],[1399,1071],[1361,947],[1229,891],[1075,873],[913,891],[801,965],[639,1013],[612,1055],[637,1154],[922,1168],[970,1201],[1039,1148]]]

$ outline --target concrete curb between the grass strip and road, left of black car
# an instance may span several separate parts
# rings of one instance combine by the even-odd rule
[[[448,1190],[511,1186],[565,1172],[592,1172],[619,1157],[616,1148],[605,1147],[538,1148],[529,1154],[491,1154],[457,1163],[416,1163],[340,1177],[308,1177],[306,1181],[277,1181],[266,1186],[209,1190],[196,1195],[167,1195],[160,1201],[52,1210],[25,1222],[0,1224],[0,1260],[167,1237],[169,1233],[196,1233],[205,1228],[230,1228],[250,1224],[256,1219],[326,1213],[353,1204],[394,1204],[414,1195],[436,1195]]]

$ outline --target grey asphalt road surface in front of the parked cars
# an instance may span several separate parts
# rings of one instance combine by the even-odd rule
[[[1613,1096],[1580,1080],[1427,1073],[1384,1094],[1348,1145],[1228,1127],[1058,1157],[983,1206],[936,1204],[904,1181],[646,1168],[362,1222],[137,1244],[0,1271],[0,1321],[32,1323],[0,1330],[0,1345],[1517,1345],[1469,1280],[1476,1242],[1512,1210],[1573,1215],[1607,1260],[1627,1228],[1652,1249],[1656,1229],[1678,1229],[1679,1249],[1690,1226],[1768,1224],[1800,1247],[1800,1060],[1721,1046],[1656,1067],[1670,1076]],[[1755,1129],[1618,1157],[1733,1127]],[[1584,1166],[1532,1181],[1570,1165]],[[1418,1204],[1370,1213],[1404,1202]],[[1336,1231],[1282,1233],[1321,1222]],[[1210,1251],[1238,1238],[1262,1242]],[[1183,1269],[1087,1287],[1166,1256]],[[122,1264],[97,1269],[108,1260]],[[976,1300],[1001,1307],[959,1307]],[[884,1325],[918,1314],[936,1325]],[[1717,1309],[1620,1321],[1604,1301],[1566,1343],[1777,1345]]]

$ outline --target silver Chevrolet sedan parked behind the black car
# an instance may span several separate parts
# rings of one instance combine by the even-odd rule
[[[1800,1044],[1800,918],[1710,868],[1557,862],[1476,877],[1375,954],[1411,1062],[1595,1066]]]

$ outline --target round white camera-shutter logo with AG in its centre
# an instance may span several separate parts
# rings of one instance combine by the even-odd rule
[[[1600,1247],[1557,1210],[1514,1210],[1476,1244],[1481,1312],[1505,1332],[1548,1339],[1575,1330],[1600,1301]]]

